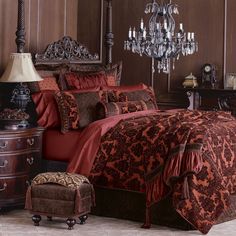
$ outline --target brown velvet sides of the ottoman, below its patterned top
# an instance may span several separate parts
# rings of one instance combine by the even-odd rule
[[[42,184],[28,189],[25,208],[38,214],[68,217],[89,213],[94,203],[91,184],[84,183],[76,190],[57,184]]]

